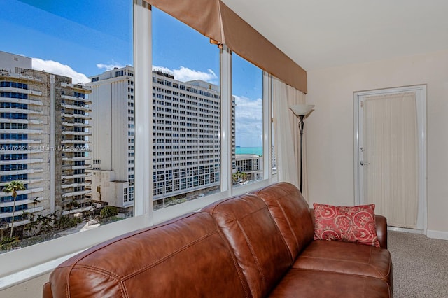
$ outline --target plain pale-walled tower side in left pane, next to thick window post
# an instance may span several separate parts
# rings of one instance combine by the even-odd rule
[[[134,206],[134,68],[90,77],[92,199],[132,212]]]

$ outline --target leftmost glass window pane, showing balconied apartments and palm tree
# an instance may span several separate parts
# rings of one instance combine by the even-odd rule
[[[132,216],[132,1],[0,10],[0,250]]]

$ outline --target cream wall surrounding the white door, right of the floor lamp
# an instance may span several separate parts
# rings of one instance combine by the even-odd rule
[[[448,51],[308,71],[309,202],[353,205],[353,92],[427,85],[428,236],[448,239]]]

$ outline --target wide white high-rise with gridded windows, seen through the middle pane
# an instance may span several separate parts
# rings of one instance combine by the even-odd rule
[[[153,71],[154,208],[218,191],[220,136],[217,85]]]

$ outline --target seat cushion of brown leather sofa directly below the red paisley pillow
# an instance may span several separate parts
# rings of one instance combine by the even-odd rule
[[[371,276],[392,285],[391,254],[374,246],[315,240],[297,257],[293,267]]]

